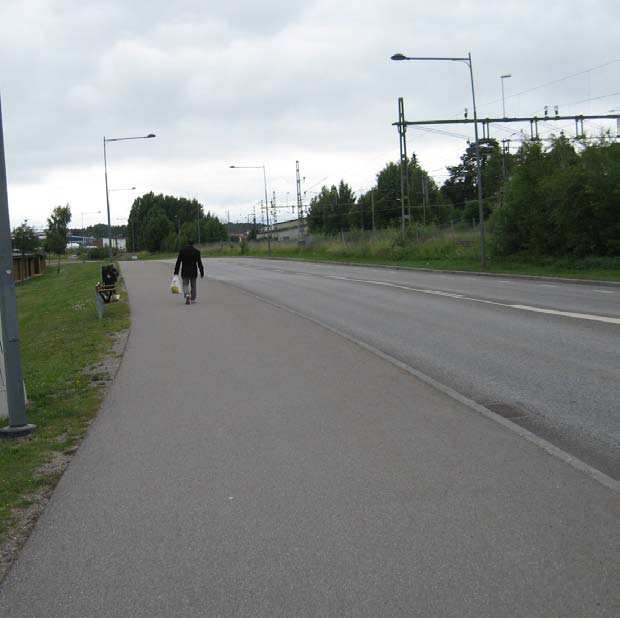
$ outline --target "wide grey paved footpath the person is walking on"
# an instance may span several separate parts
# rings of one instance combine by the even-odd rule
[[[619,615],[613,490],[309,321],[123,269],[123,364],[0,616]]]

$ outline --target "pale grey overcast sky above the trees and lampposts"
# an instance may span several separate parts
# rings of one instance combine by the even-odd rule
[[[11,222],[43,226],[67,202],[74,226],[93,211],[86,222],[103,222],[104,135],[157,134],[108,145],[110,188],[137,188],[110,194],[113,223],[147,191],[245,220],[262,172],[231,164],[265,163],[282,204],[297,159],[308,191],[324,178],[366,189],[398,158],[399,96],[409,120],[471,110],[464,64],[390,62],[399,51],[471,51],[482,116],[501,116],[505,73],[508,115],[607,113],[620,108],[619,18],[618,0],[0,0]],[[438,182],[472,132],[444,128],[408,134]]]

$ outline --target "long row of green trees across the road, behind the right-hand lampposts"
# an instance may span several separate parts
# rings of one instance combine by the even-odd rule
[[[554,139],[524,142],[503,152],[497,140],[480,140],[484,217],[490,218],[497,255],[618,255],[620,253],[620,144]],[[404,178],[408,226],[478,223],[476,157],[468,144],[441,187],[415,155]],[[351,229],[396,227],[401,221],[401,174],[388,163],[375,186],[356,196],[344,181],[312,198],[312,233],[333,236]]]

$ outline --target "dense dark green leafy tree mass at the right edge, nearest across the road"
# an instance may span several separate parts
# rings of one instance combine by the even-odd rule
[[[559,137],[547,150],[524,144],[515,161],[505,203],[489,222],[498,254],[620,254],[620,144],[578,151]]]

